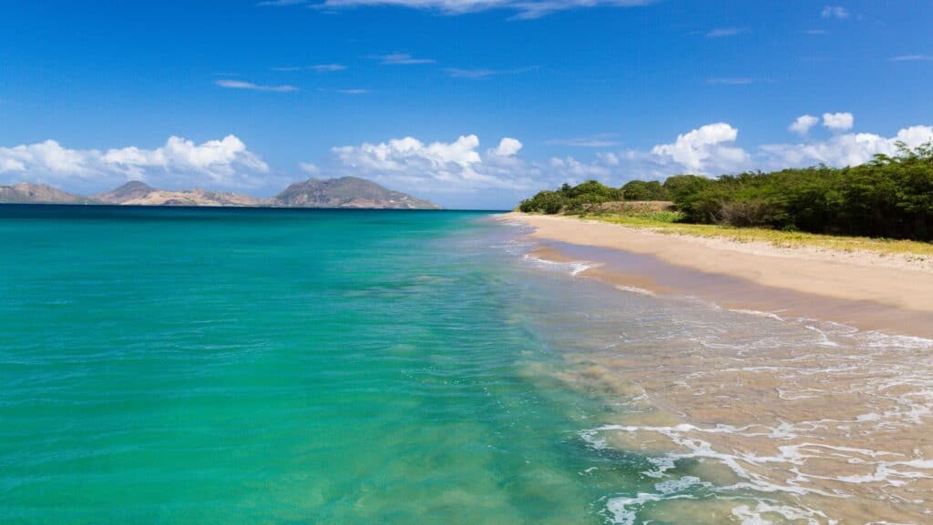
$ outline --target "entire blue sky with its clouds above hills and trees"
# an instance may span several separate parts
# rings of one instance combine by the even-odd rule
[[[933,139],[931,0],[0,2],[0,184],[450,208]]]

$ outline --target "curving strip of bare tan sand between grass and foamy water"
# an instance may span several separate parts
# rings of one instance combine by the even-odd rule
[[[672,235],[565,216],[513,212],[499,220],[535,228],[529,236],[542,246],[533,256],[595,263],[579,273],[623,290],[933,338],[933,261]]]

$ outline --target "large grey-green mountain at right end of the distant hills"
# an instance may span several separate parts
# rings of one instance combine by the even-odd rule
[[[293,208],[440,209],[434,202],[415,199],[358,177],[311,178],[286,187],[271,203]]]

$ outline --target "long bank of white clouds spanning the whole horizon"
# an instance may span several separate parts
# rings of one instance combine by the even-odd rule
[[[822,123],[829,137],[806,140]],[[916,147],[933,141],[933,126],[902,128],[894,136],[851,132],[851,113],[802,115],[788,126],[801,142],[762,144],[745,149],[739,130],[715,122],[680,133],[647,150],[619,149],[610,141],[574,139],[583,145],[605,145],[592,159],[572,156],[524,159],[521,140],[499,139],[482,149],[476,134],[452,142],[425,143],[406,136],[381,143],[340,145],[330,149],[322,165],[299,163],[301,175],[272,173],[261,157],[234,135],[202,144],[172,136],[154,149],[136,146],[69,149],[54,140],[0,147],[0,182],[32,181],[65,189],[104,189],[132,179],[162,187],[209,187],[251,190],[299,176],[355,175],[426,196],[508,191],[512,195],[564,182],[598,179],[619,186],[628,180],[663,179],[679,173],[717,176],[747,170],[779,170],[818,164],[843,167],[869,161],[877,154],[895,155],[898,144]]]

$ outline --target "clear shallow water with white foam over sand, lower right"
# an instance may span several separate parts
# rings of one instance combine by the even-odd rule
[[[581,261],[522,263],[553,275],[529,315],[563,357],[529,375],[602,398],[580,438],[641,473],[606,497],[611,520],[933,522],[930,339],[613,289],[580,278]]]

